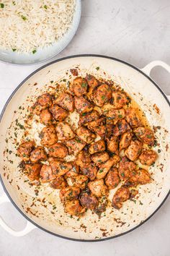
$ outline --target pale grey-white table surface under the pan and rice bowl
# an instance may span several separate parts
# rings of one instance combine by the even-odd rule
[[[83,0],[79,30],[55,59],[73,54],[104,54],[137,67],[157,59],[170,64],[169,12],[169,0]],[[0,63],[0,111],[19,82],[41,66],[15,67]],[[151,76],[166,94],[170,94],[166,71],[156,68]],[[10,203],[1,206],[0,215],[14,229],[23,229],[24,218]],[[168,256],[169,216],[170,198],[140,228],[117,239],[96,243],[71,242],[40,229],[17,238],[0,228],[0,255]]]

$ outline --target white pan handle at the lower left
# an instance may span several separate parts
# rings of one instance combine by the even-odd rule
[[[0,197],[0,205],[4,202],[10,202],[9,197],[7,197],[5,193]],[[27,221],[27,224],[22,231],[15,231],[14,229],[12,229],[6,224],[6,222],[1,218],[1,216],[0,216],[0,226],[12,236],[24,236],[30,233],[30,231],[32,231],[33,229],[37,228],[35,225],[30,223],[30,221]]]

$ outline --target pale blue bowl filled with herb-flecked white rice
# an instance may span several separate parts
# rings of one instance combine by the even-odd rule
[[[80,18],[81,0],[0,0],[0,61],[47,61],[70,43]]]

